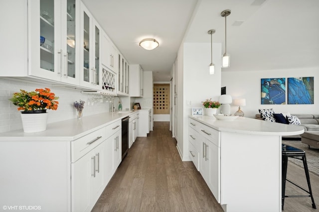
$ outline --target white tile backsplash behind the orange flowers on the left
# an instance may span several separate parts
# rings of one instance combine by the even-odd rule
[[[50,88],[55,96],[59,97],[58,109],[47,110],[48,123],[77,118],[76,109],[73,107],[75,101],[85,101],[83,116],[109,112],[112,106],[111,100],[101,95],[82,94],[80,90],[54,87],[50,84],[0,78],[0,132],[22,128],[20,112],[17,106],[8,100],[12,94],[20,89],[34,91],[36,88]]]

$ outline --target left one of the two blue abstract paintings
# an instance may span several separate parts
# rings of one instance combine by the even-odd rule
[[[261,104],[286,104],[286,78],[261,79]]]

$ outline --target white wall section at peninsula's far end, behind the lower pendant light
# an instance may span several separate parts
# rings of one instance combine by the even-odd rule
[[[183,57],[179,54],[182,50]],[[182,160],[188,157],[188,115],[192,107],[202,107],[206,99],[217,100],[221,86],[221,44],[213,44],[213,63],[215,74],[209,75],[210,43],[184,43],[178,52],[177,66],[177,145]],[[182,62],[182,63],[181,63]],[[191,106],[186,106],[191,102]],[[183,108],[183,109],[181,109]]]

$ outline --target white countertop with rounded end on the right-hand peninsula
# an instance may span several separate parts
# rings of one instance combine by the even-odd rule
[[[252,135],[299,135],[304,133],[304,127],[299,125],[269,122],[254,118],[238,117],[235,120],[217,120],[214,116],[192,116],[218,131],[235,132]]]

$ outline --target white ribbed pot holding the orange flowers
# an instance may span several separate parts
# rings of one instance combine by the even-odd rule
[[[24,132],[41,132],[46,130],[48,113],[21,113]]]

